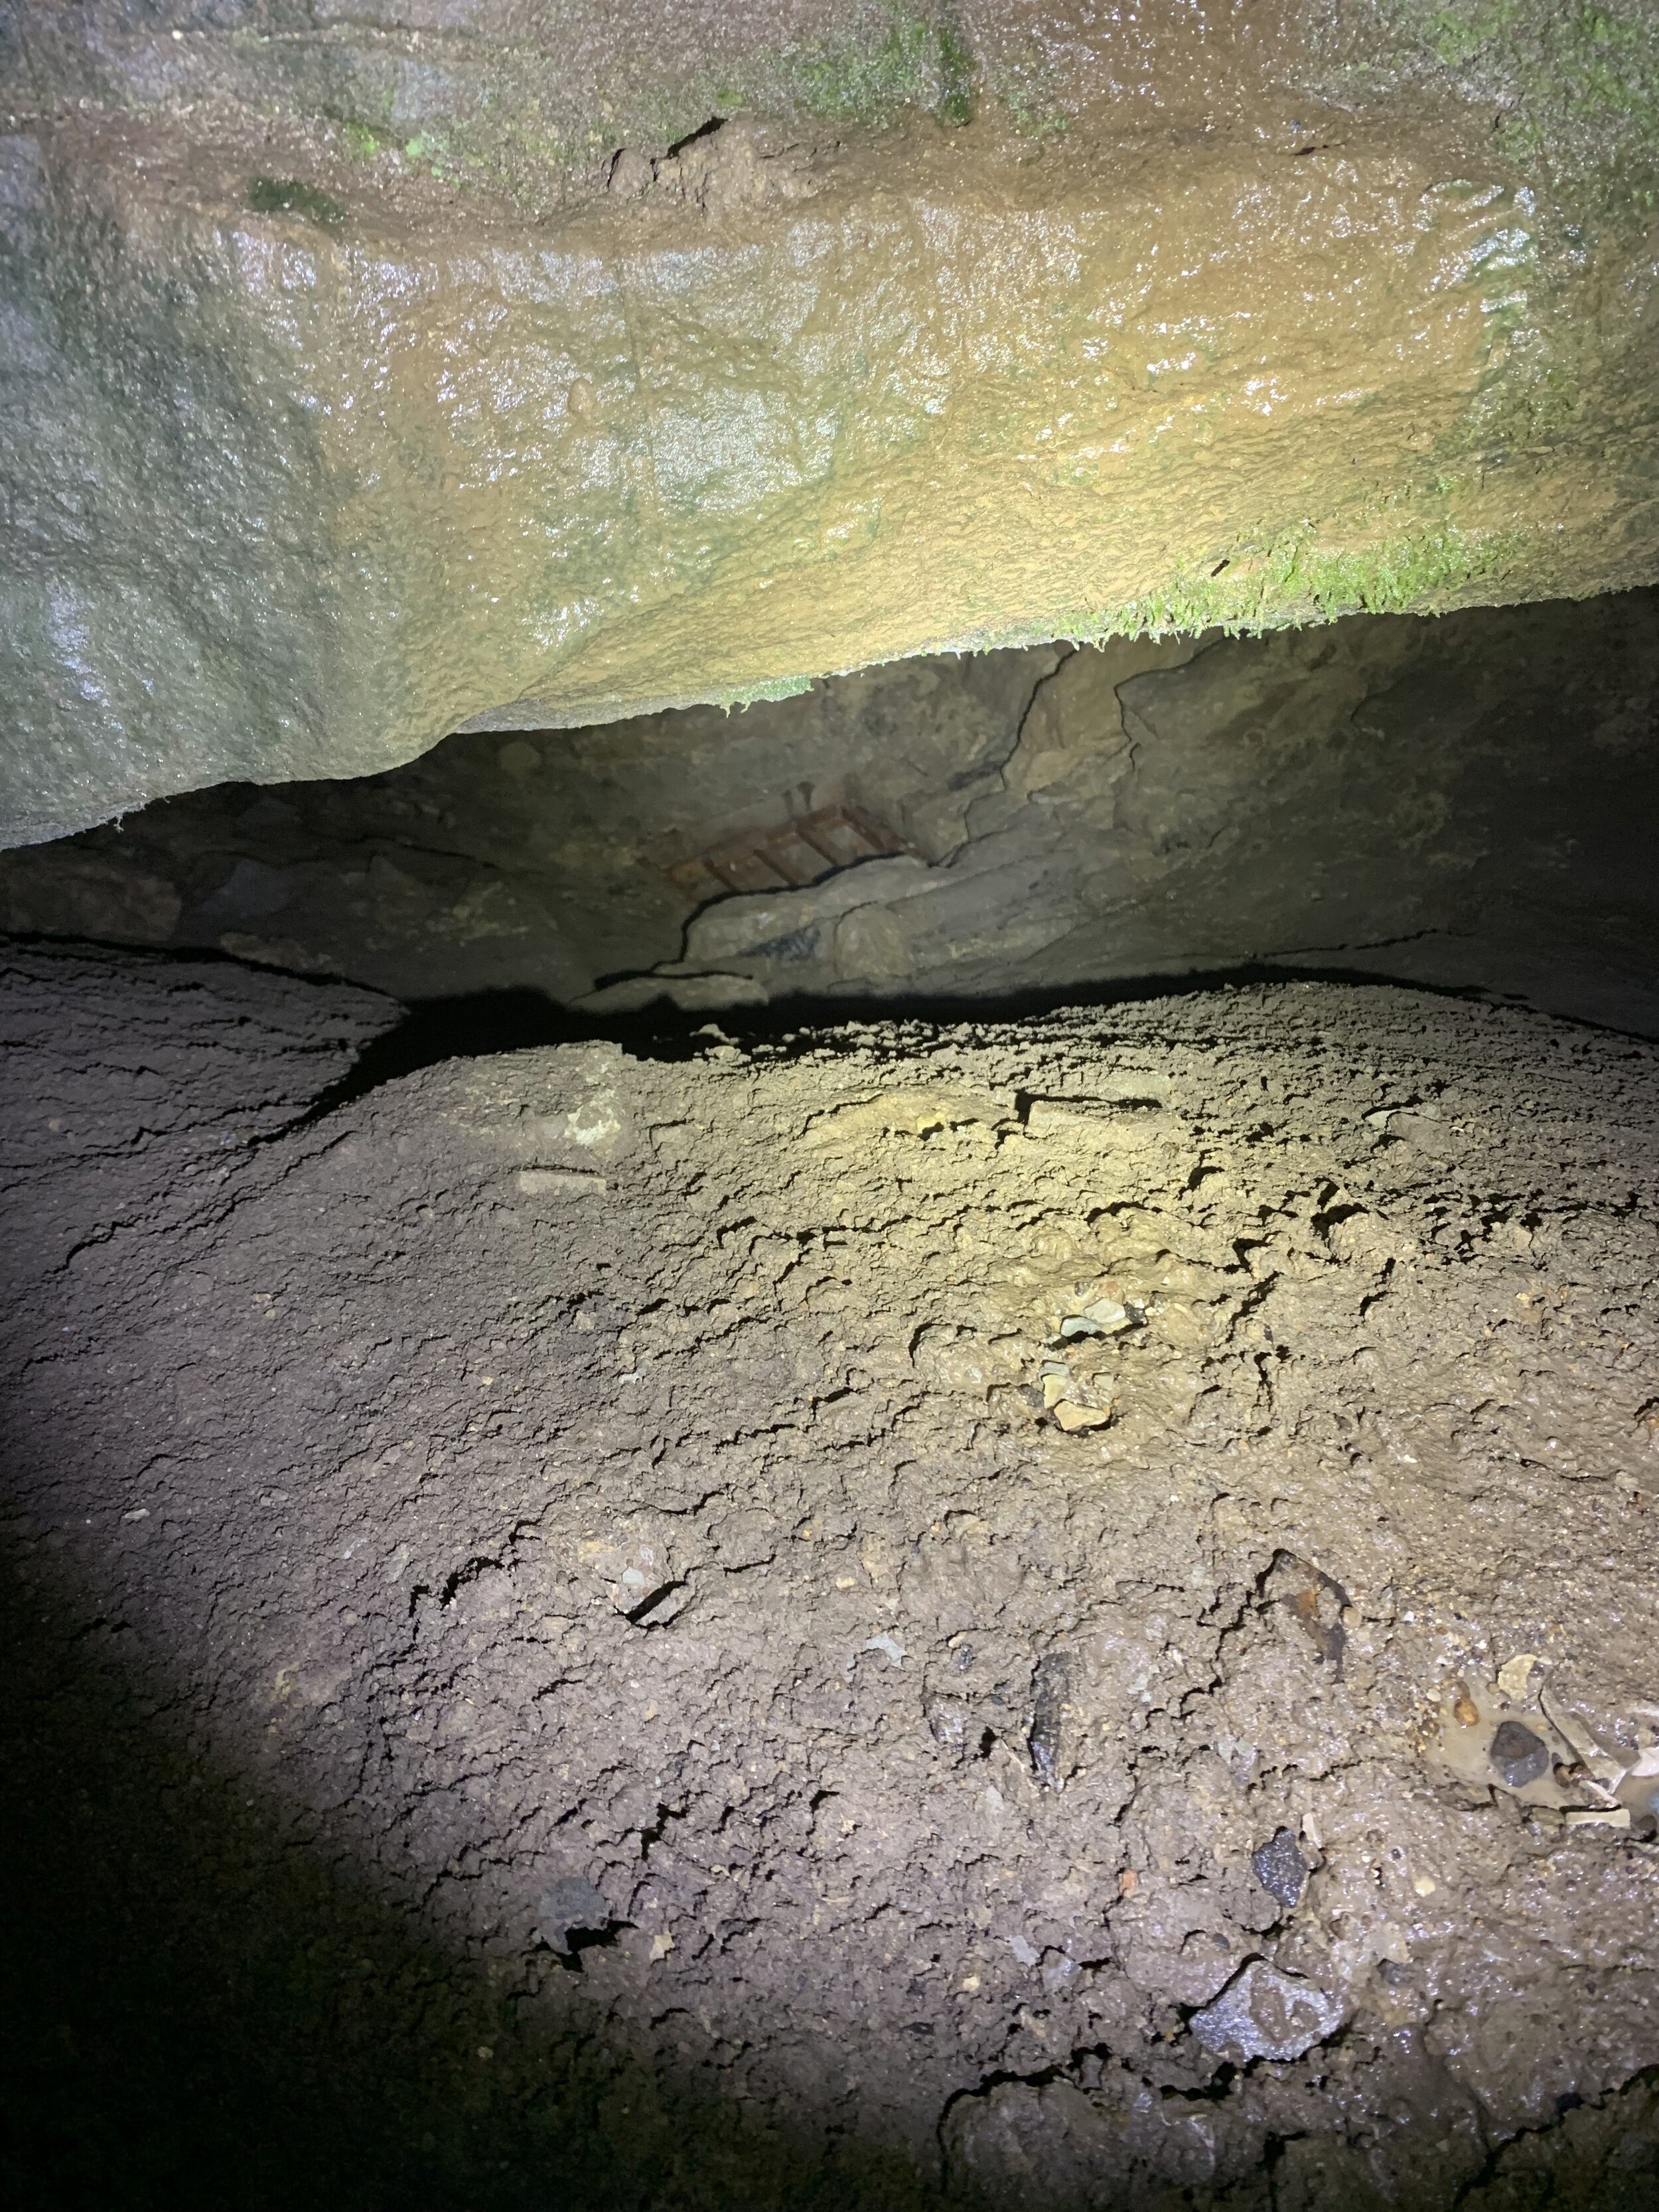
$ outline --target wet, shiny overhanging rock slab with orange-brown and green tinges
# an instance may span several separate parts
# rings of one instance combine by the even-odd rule
[[[20,0],[0,843],[929,648],[1648,580],[1650,9],[1234,13]]]

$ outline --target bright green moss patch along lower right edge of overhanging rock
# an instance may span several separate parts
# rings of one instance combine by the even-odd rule
[[[1106,615],[1084,617],[1075,635],[1225,630],[1237,637],[1334,622],[1338,615],[1431,613],[1473,584],[1502,582],[1517,551],[1513,535],[1469,533],[1455,524],[1402,531],[1383,544],[1343,551],[1327,551],[1310,529],[1296,529],[1263,549],[1243,549],[1208,573],[1181,573]]]

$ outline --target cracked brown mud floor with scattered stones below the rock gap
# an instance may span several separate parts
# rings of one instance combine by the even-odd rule
[[[1659,2201],[1655,1046],[0,1004],[31,2203]]]

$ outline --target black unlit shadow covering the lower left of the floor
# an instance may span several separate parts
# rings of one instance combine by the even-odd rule
[[[0,2128],[9,2199],[354,2212],[942,2199],[538,2020],[217,1767],[100,1617],[0,1540]]]

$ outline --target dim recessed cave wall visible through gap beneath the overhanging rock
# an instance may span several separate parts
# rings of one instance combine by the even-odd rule
[[[1006,998],[1290,960],[1659,1031],[1659,595],[920,657],[0,856],[0,927],[405,1000]]]

